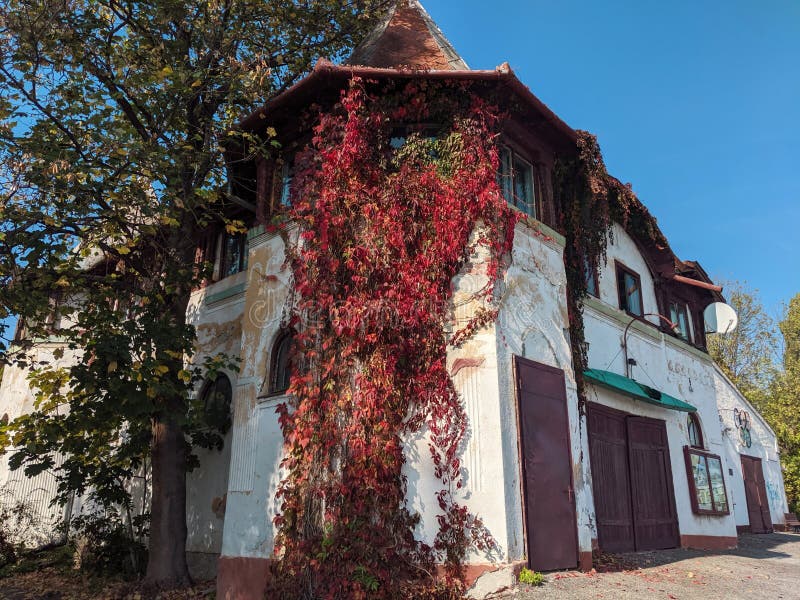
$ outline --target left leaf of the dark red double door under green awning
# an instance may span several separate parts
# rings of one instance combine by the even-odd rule
[[[607,552],[635,550],[628,475],[627,415],[589,404],[589,458],[592,464],[595,522],[600,547]]]

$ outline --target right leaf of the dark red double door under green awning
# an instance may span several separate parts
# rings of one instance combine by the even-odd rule
[[[628,464],[636,550],[680,545],[664,421],[628,417]]]

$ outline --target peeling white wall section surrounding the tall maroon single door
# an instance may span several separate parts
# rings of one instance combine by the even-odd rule
[[[573,484],[578,523],[578,547],[589,552],[596,537],[591,485],[581,469],[585,464],[585,427],[578,415],[578,396],[572,367],[563,240],[533,221],[517,225],[512,264],[502,282],[497,320],[497,386],[502,428],[506,529],[509,559],[526,556],[521,465],[513,374],[515,355],[564,371],[567,390]]]

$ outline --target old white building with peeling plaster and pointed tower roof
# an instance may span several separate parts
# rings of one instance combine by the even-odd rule
[[[552,190],[554,162],[575,152],[576,133],[507,66],[469,70],[416,1],[399,3],[390,17],[347,65],[319,64],[242,127],[274,127],[288,153],[302,139],[301,110],[330,104],[354,76],[459,80],[499,92],[513,107],[503,144],[513,176],[531,184],[515,202],[526,215],[499,285],[496,322],[448,355],[470,422],[462,501],[498,545],[491,557],[470,557],[470,579],[489,590],[509,584],[522,565],[588,569],[598,548],[729,548],[737,528],[781,524],[787,508],[775,435],[705,351],[702,312],[722,300],[720,288],[696,263],[615,224],[605,262],[587,269],[581,406]],[[257,598],[273,557],[283,445],[275,409],[285,400],[291,341],[281,329],[284,242],[264,224],[280,208],[290,171],[266,162],[236,168],[240,181],[252,182],[233,191],[255,207],[244,213],[253,227],[246,239],[204,240],[217,272],[193,295],[189,315],[200,357],[238,356],[241,369],[198,390],[229,395],[233,428],[225,449],[203,452],[190,475],[187,552],[196,573],[218,572],[218,597]],[[456,303],[481,278],[473,261],[454,281]],[[30,410],[13,369],[0,406],[12,418]],[[409,440],[409,450],[415,445],[420,451],[407,453],[409,502],[422,515],[420,537],[432,541],[438,480],[424,442]]]

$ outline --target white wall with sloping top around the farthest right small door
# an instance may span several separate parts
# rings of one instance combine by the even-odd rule
[[[742,479],[741,455],[754,456],[761,459],[772,524],[785,523],[785,513],[788,512],[789,507],[786,502],[786,490],[783,483],[783,472],[775,433],[764,421],[764,418],[718,368],[714,370],[713,385],[719,405],[726,467],[734,473],[726,483],[728,485],[728,494],[733,497],[736,525],[750,525],[750,517],[747,514],[747,498]],[[739,430],[734,423],[733,411],[737,408],[750,414],[749,430],[752,445],[749,448],[742,443]],[[726,473],[729,472],[726,471]]]

